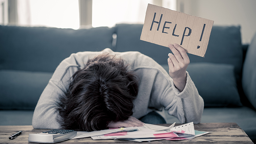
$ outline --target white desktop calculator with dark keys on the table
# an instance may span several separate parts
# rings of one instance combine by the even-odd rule
[[[29,142],[32,143],[58,143],[72,139],[76,136],[75,130],[54,129],[42,133],[29,134]]]

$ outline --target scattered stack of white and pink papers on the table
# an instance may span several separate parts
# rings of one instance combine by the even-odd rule
[[[94,132],[77,132],[78,134],[72,139],[91,137],[94,140],[119,139],[142,142],[153,140],[187,140],[209,133],[195,130],[193,122],[175,127],[174,124],[169,127],[144,124],[144,126],[140,127],[106,129]]]

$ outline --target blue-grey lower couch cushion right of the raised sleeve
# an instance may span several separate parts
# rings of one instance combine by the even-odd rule
[[[187,71],[205,107],[242,106],[233,65],[192,63]]]

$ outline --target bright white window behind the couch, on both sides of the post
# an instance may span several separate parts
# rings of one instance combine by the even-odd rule
[[[80,20],[84,23],[86,17],[85,20],[91,19],[86,21],[89,27],[113,27],[117,23],[143,24],[148,3],[176,10],[176,0],[92,0],[90,3],[82,5],[79,0],[16,0],[18,16],[15,24],[79,29],[83,28]],[[79,4],[81,9],[88,10],[81,14],[83,19],[79,19]]]

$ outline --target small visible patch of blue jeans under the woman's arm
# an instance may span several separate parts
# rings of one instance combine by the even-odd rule
[[[139,120],[146,124],[166,124],[165,119],[155,111],[144,115],[143,117],[139,118]]]

